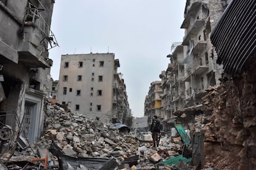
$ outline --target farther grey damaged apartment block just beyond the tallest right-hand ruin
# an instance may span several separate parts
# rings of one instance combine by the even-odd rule
[[[164,115],[163,127],[168,131],[174,123],[173,113],[184,107],[184,48],[181,42],[174,42],[171,46],[172,54],[167,55],[170,59],[166,71],[160,74],[161,87],[163,89],[162,114]]]

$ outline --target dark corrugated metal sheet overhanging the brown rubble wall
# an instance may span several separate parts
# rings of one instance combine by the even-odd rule
[[[236,75],[245,68],[256,49],[256,1],[233,0],[211,34],[225,73]]]

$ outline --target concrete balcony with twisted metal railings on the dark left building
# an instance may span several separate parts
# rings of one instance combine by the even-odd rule
[[[58,43],[38,9],[28,7],[23,24],[25,34],[18,49],[19,62],[33,68],[51,67],[52,60],[48,59],[48,50],[58,46]]]

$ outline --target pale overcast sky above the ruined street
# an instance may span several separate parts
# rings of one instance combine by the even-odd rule
[[[56,0],[49,50],[59,79],[62,54],[111,52],[119,59],[132,114],[142,117],[152,81],[168,67],[171,44],[181,42],[186,0]]]

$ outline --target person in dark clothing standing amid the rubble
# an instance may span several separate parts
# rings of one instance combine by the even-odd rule
[[[150,132],[152,133],[153,147],[158,147],[161,138],[160,120],[157,119],[157,116],[152,116],[151,118],[152,123],[150,126]]]

